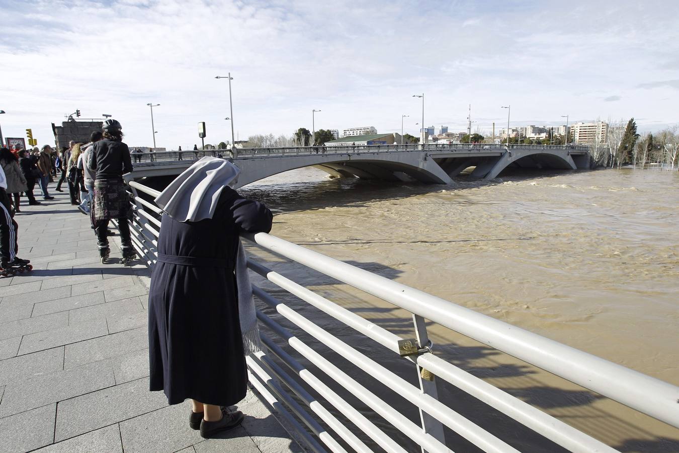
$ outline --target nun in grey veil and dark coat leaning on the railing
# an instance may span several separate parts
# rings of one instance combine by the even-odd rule
[[[232,187],[240,170],[204,157],[155,199],[164,214],[149,291],[151,391],[191,399],[189,425],[203,437],[236,427],[245,397],[245,346],[257,319],[239,235],[270,232],[272,213]],[[249,348],[248,348],[249,349]]]

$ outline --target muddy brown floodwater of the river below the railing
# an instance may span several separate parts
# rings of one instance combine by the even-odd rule
[[[462,177],[439,186],[333,180],[304,168],[239,192],[270,206],[275,236],[679,385],[676,172],[518,173],[494,181]],[[407,312],[257,254],[329,300],[412,336]],[[271,283],[259,284],[416,384],[412,365],[403,359]],[[678,429],[438,325],[429,324],[428,331],[437,354],[618,450],[679,452]],[[406,409],[412,406],[398,395],[363,372],[356,378],[371,382],[375,393],[402,405],[419,423],[418,412]],[[437,384],[445,403],[515,448],[562,451],[453,386]],[[354,403],[370,412],[361,401]],[[379,417],[371,420],[394,433]],[[478,451],[450,431],[447,443],[457,452]],[[407,440],[403,445],[418,451]]]

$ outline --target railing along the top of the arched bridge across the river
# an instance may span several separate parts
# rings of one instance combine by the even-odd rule
[[[545,149],[586,152],[589,148],[583,145],[509,145],[509,149]],[[232,149],[202,149],[199,151],[158,151],[149,153],[132,153],[132,163],[179,162],[193,161],[203,156],[218,158],[266,158],[270,156],[312,156],[314,154],[347,154],[347,153],[382,153],[406,151],[439,151],[439,152],[504,152],[507,145],[489,145],[484,143],[427,143],[426,145],[342,145],[342,146],[304,146],[304,147],[266,147]]]

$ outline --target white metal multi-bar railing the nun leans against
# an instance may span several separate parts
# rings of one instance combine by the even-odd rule
[[[130,181],[129,185],[134,208],[131,221],[134,247],[147,266],[153,267],[162,215],[153,198],[159,192],[134,181]],[[451,403],[454,401],[439,399],[436,380],[456,386],[572,452],[616,451],[435,355],[435,345],[428,338],[425,320],[679,427],[679,387],[276,236],[259,233],[246,236],[246,239],[296,265],[325,274],[407,310],[412,317],[415,336],[404,338],[295,283],[272,270],[268,264],[249,259],[249,268],[276,287],[274,291],[265,291],[261,286],[253,285],[253,293],[261,302],[257,319],[263,348],[246,357],[250,383],[280,416],[288,420],[292,429],[314,452],[345,452],[347,446],[357,452],[371,452],[375,446],[379,446],[378,451],[408,451],[402,439],[394,438],[394,429],[411,439],[422,451],[449,452],[454,446],[446,443],[443,427],[486,452],[517,451],[508,442],[452,410]],[[353,329],[356,334],[373,340],[380,347],[371,348],[366,354],[361,352],[365,347],[359,350],[350,346],[322,325],[306,318],[302,314],[306,310],[282,302],[283,297],[278,294],[283,293],[317,308],[342,323],[346,329]],[[294,325],[294,329],[280,323],[282,319],[286,324]],[[327,323],[324,321],[323,325]],[[319,346],[336,352],[344,360],[337,361],[327,352],[318,352]],[[386,354],[401,357],[409,363],[413,375],[395,374],[375,360]],[[359,380],[354,367],[363,370],[369,378]],[[418,385],[411,384],[415,375]],[[397,392],[418,408],[420,419],[409,417],[402,409],[394,407],[392,401],[379,397],[370,386],[386,386]],[[357,410],[343,395],[359,399],[367,410]],[[392,429],[385,431],[381,428],[386,424]],[[460,448],[464,450],[464,446]]]

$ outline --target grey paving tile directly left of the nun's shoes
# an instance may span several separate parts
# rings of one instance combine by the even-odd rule
[[[202,441],[187,423],[190,410],[191,403],[186,401],[120,422],[125,452],[177,452]]]

